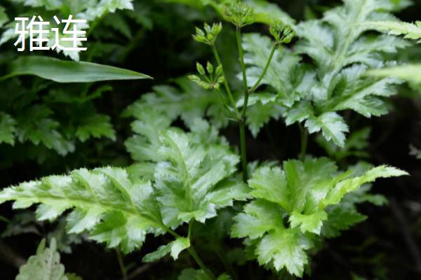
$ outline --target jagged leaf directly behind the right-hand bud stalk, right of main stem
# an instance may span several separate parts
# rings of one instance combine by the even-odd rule
[[[265,69],[274,43],[269,37],[260,34],[243,36],[245,61],[250,65],[247,69],[250,85],[258,80]],[[254,137],[271,118],[279,119],[285,112],[283,106],[292,106],[311,90],[314,72],[302,66],[299,63],[300,60],[298,55],[286,48],[279,47],[275,50],[274,58],[260,83],[260,85],[269,85],[270,90],[253,93],[248,103],[250,108],[248,108],[246,122]],[[238,77],[242,79],[241,74]],[[237,106],[242,106],[242,104],[243,99],[239,99]]]

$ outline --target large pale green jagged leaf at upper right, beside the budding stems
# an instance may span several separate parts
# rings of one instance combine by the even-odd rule
[[[385,64],[382,53],[396,52],[408,43],[393,36],[368,34],[362,25],[392,18],[389,11],[393,8],[388,1],[345,1],[344,6],[328,10],[320,20],[296,25],[294,29],[301,39],[295,52],[276,54],[278,58],[269,66],[264,80],[275,90],[269,90],[274,93],[271,96],[274,101],[267,102],[264,94],[259,106],[281,105],[287,125],[305,122],[309,133],[322,132],[328,141],[344,146],[349,128],[338,112],[352,110],[365,117],[381,116],[387,113],[382,98],[396,93],[392,85],[399,80],[370,78],[365,72],[368,67]],[[253,42],[259,37],[255,35],[254,40],[245,38],[245,41]],[[264,60],[257,54],[269,52],[270,44],[263,43],[268,40],[260,38],[260,43],[253,43],[255,48],[249,48],[250,57],[254,57],[250,59],[251,65],[262,68]],[[314,65],[299,65],[301,55],[311,57]],[[250,70],[251,79],[256,72]],[[271,72],[276,76],[270,76]],[[276,112],[274,118],[279,118],[279,110]]]

